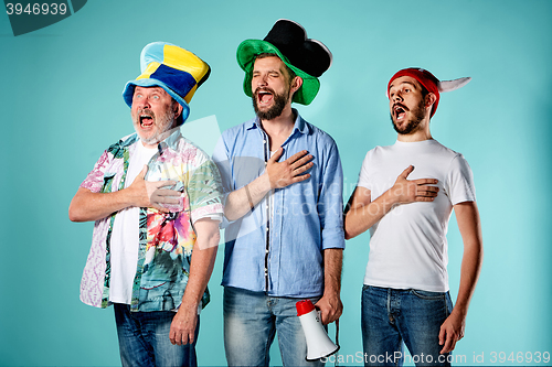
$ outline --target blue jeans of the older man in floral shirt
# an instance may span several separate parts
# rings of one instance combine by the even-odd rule
[[[198,366],[195,342],[200,327],[195,326],[193,343],[172,345],[169,339],[176,312],[130,312],[128,304],[114,304],[120,360],[130,366]]]

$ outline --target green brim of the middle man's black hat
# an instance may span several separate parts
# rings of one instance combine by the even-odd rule
[[[269,53],[276,54],[297,76],[302,78],[302,86],[294,94],[293,101],[300,105],[309,105],[320,89],[318,78],[305,73],[289,63],[286,56],[272,43],[262,40],[245,40],[237,46],[237,64],[245,72],[243,90],[247,96],[252,96],[251,79],[253,72],[253,60],[255,55]]]

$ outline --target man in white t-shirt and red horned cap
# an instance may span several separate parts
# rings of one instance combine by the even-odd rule
[[[397,366],[403,343],[416,365],[450,365],[464,336],[482,262],[471,170],[459,153],[432,138],[439,93],[469,78],[439,82],[421,68],[397,72],[388,96],[397,140],[368,152],[346,207],[346,238],[370,229],[362,291],[367,366]],[[448,219],[455,212],[464,241],[459,291],[448,293]]]

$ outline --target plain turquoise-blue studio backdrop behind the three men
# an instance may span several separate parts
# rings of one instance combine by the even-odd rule
[[[211,65],[210,79],[191,101],[189,121],[195,122],[188,128],[209,151],[219,130],[253,116],[237,45],[263,39],[280,18],[301,23],[333,53],[318,97],[296,107],[336,140],[344,201],[367,151],[396,139],[385,97],[391,75],[421,66],[442,79],[473,77],[442,96],[432,119],[434,138],[461,152],[474,171],[484,233],[484,268],[455,364],[551,364],[537,357],[552,352],[552,1],[73,1],[67,17],[19,35],[4,4],[1,366],[120,365],[113,309],[78,300],[93,224],[71,223],[68,204],[103,150],[134,131],[121,91],[139,75],[147,43],[181,45]],[[362,360],[360,293],[369,239],[365,233],[349,240],[344,251],[342,365]],[[448,241],[455,299],[463,242],[454,216]],[[223,250],[221,245],[212,302],[202,313],[202,366],[225,365]],[[280,364],[277,343],[272,364]]]

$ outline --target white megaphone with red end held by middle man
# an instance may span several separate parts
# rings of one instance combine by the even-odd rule
[[[299,301],[295,306],[307,338],[307,361],[318,360],[338,352],[339,345],[333,344],[326,334],[312,302],[310,300]]]

